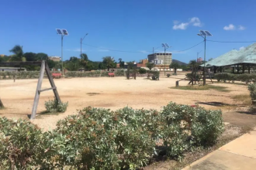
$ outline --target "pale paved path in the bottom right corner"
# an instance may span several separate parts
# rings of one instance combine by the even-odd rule
[[[183,170],[256,169],[256,128],[250,134],[231,141]]]

